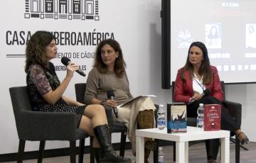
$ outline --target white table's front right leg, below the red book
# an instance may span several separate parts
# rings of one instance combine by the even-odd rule
[[[221,138],[220,143],[221,143],[220,162],[229,163],[230,162],[230,137]]]

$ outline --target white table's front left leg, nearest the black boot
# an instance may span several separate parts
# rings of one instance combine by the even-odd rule
[[[136,162],[144,162],[144,137],[136,137]]]

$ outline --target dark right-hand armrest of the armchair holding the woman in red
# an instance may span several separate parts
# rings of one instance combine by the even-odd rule
[[[233,101],[223,101],[223,105],[228,108],[229,113],[231,116],[235,118],[235,120],[241,124],[242,119],[242,104],[236,103]]]

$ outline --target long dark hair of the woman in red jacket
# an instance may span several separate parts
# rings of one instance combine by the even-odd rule
[[[198,73],[203,77],[203,84],[207,85],[210,84],[210,81],[212,80],[213,77],[213,72],[210,69],[210,60],[208,57],[208,50],[206,48],[206,45],[204,45],[201,42],[193,42],[191,43],[189,49],[188,49],[188,57],[186,60],[185,66],[181,69],[181,79],[185,79],[184,77],[184,72],[187,70],[190,72],[191,77],[193,77],[193,64],[189,62],[189,52],[191,50],[191,47],[196,46],[200,48],[203,52],[203,60],[201,67],[199,68]]]

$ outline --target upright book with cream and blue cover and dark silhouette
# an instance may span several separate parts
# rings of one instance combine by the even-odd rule
[[[186,133],[186,103],[167,103],[167,133]]]

